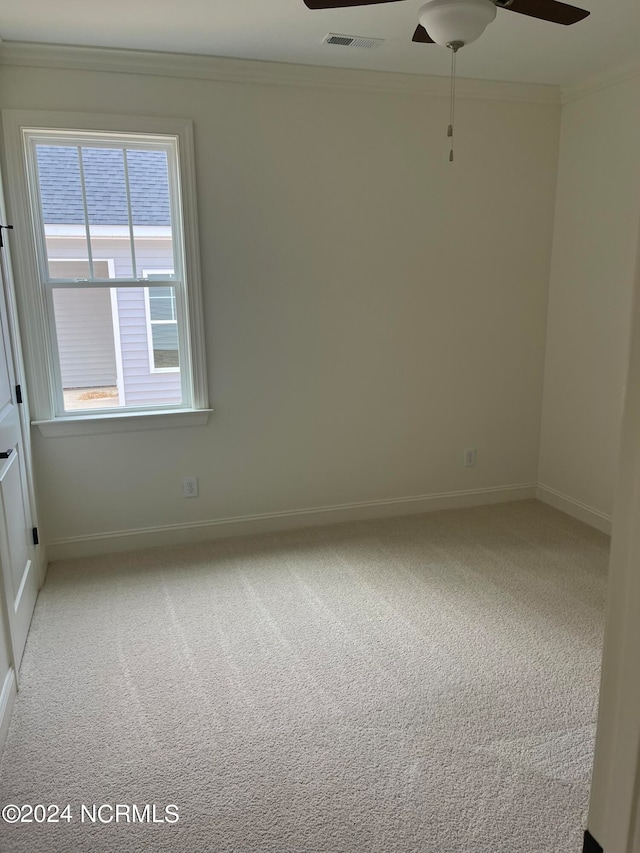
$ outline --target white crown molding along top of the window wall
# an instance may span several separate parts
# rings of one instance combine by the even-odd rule
[[[308,86],[449,97],[448,77],[294,65],[185,53],[5,41],[0,43],[0,66],[11,65],[183,77],[213,80],[219,83]],[[532,83],[462,78],[456,83],[456,92],[459,97],[470,99],[560,104],[559,87]]]

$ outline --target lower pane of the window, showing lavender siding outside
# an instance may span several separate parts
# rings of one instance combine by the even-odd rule
[[[177,324],[147,323],[144,288],[60,287],[53,304],[65,412],[182,402]]]

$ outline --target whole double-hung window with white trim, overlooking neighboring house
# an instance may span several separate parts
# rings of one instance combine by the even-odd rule
[[[208,411],[190,125],[42,117],[3,114],[38,422]]]

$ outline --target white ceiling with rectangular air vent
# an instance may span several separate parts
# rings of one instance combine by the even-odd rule
[[[302,0],[18,0],[0,38],[446,75],[450,54],[411,42],[422,0],[311,11]],[[498,9],[458,54],[461,77],[571,85],[640,59],[638,0],[577,0],[570,27]],[[329,32],[385,39],[372,50],[322,44]]]

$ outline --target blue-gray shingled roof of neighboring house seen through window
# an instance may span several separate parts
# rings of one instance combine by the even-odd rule
[[[170,225],[167,156],[163,151],[128,149],[127,172],[134,225]],[[82,180],[75,146],[38,145],[42,213],[49,225],[84,223]],[[127,225],[123,151],[82,149],[90,225]]]

